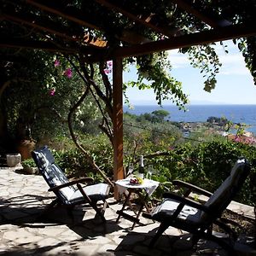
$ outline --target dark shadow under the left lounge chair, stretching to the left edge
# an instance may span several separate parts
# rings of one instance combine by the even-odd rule
[[[102,223],[102,218],[91,211],[90,206],[77,206],[73,209],[73,217],[67,214],[67,208],[56,206],[47,209],[49,204],[42,201],[52,201],[54,197],[41,195],[20,195],[4,200],[0,198],[0,224],[13,224],[20,227],[44,228],[46,226],[66,225],[83,239],[94,236],[104,236],[120,230],[115,218]]]

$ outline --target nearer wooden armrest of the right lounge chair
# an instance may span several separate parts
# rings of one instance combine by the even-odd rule
[[[181,195],[174,194],[172,192],[164,193],[163,196],[164,196],[164,198],[169,198],[169,199],[172,199],[174,201],[177,201],[178,203],[181,203],[183,206],[186,205],[186,206],[189,206],[189,207],[194,207],[196,209],[199,209],[199,210],[201,210],[203,212],[207,212],[207,213],[212,212],[209,207],[206,207],[206,206],[202,205],[200,202],[191,200],[191,199],[189,199],[187,197],[183,197]],[[182,209],[182,207],[180,208],[180,210],[181,209]]]

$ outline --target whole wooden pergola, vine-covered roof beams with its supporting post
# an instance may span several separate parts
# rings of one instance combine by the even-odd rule
[[[123,58],[256,35],[254,0],[1,2],[1,48],[81,54],[91,63],[113,60],[115,180],[124,177]],[[236,3],[241,6],[241,2],[244,3],[244,9],[236,8]],[[236,19],[237,15],[241,19]],[[183,22],[193,20],[198,24],[197,29],[184,30],[183,24],[178,21],[180,17],[183,17]],[[23,29],[24,34],[17,37],[7,33],[4,31],[5,26],[18,27],[21,32]],[[153,33],[154,37],[148,38],[147,32]]]

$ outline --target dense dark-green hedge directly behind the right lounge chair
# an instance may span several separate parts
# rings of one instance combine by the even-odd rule
[[[201,143],[191,147],[189,143],[177,146],[168,156],[151,160],[158,170],[156,178],[167,181],[181,179],[203,189],[214,191],[230,174],[231,167],[239,157],[246,157],[252,163],[252,172],[236,197],[236,201],[255,205],[253,177],[256,174],[256,150],[253,146],[232,142]]]

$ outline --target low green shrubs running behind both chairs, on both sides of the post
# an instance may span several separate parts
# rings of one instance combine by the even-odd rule
[[[131,133],[133,137],[135,133]],[[198,143],[197,145],[185,143],[173,148],[170,145],[167,147],[167,143],[155,145],[148,137],[150,137],[149,133],[137,134],[137,139],[143,141],[142,144],[137,145],[137,154],[147,155],[158,150],[164,153],[154,158],[145,159],[146,169],[149,165],[154,167],[155,172],[152,178],[160,181],[160,187],[154,193],[155,197],[161,198],[163,192],[172,190],[174,179],[181,179],[213,192],[228,177],[236,160],[243,156],[252,163],[252,172],[236,197],[236,201],[255,205],[255,147],[243,143],[212,141],[211,143]],[[124,165],[128,166],[131,161],[133,144],[125,141],[125,145],[130,150],[124,158]],[[104,136],[84,137],[83,146],[93,157],[96,165],[110,179],[113,179],[113,148],[108,138]],[[67,150],[54,150],[53,152],[56,162],[62,170],[67,172],[68,176],[90,176],[94,177],[96,181],[102,181],[102,177],[92,170],[88,160],[78,148],[69,147]],[[137,154],[135,154],[135,157],[137,157]]]

